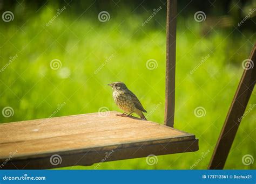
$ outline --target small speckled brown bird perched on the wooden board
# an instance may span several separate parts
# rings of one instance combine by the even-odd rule
[[[143,120],[147,120],[143,112],[147,112],[139,102],[136,95],[130,91],[123,82],[113,82],[107,84],[113,89],[113,98],[117,106],[124,111],[123,114],[117,115],[122,117],[130,116],[133,112]]]

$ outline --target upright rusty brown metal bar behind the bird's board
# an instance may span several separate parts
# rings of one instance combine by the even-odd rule
[[[164,124],[171,127],[174,124],[175,107],[176,17],[177,0],[167,0]]]

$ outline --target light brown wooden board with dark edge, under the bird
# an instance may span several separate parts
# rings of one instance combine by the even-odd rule
[[[120,113],[0,124],[0,169],[91,165],[110,152],[105,161],[198,150],[198,140],[190,133],[116,114]],[[55,154],[62,161],[52,165]]]

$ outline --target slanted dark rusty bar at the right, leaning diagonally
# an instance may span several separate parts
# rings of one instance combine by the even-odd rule
[[[239,86],[234,95],[230,110],[228,111],[226,121],[221,130],[217,145],[212,155],[208,169],[223,169],[228,153],[232,146],[235,134],[237,133],[242,115],[244,115],[247,103],[252,94],[256,80],[256,46],[254,46],[250,59],[243,62],[245,65]],[[254,67],[253,67],[254,66]]]

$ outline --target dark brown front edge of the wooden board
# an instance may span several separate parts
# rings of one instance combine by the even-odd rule
[[[97,153],[94,150],[76,154],[59,153],[61,162],[58,162],[57,165],[51,164],[50,156],[29,160],[10,160],[0,169],[50,169],[77,165],[89,166],[95,163],[99,163],[95,165],[95,169],[100,169],[100,164],[105,161],[142,158],[148,155],[194,152],[198,150],[198,139],[194,139],[167,143],[165,146],[163,144],[154,144],[102,150],[97,151]]]

